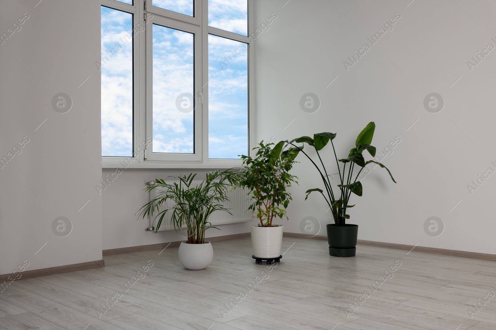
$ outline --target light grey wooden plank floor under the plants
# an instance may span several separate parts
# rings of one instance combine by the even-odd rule
[[[496,297],[487,298],[496,293],[492,261],[361,245],[356,257],[336,258],[325,241],[285,237],[287,251],[269,272],[251,259],[249,238],[212,245],[214,260],[201,271],[184,269],[175,247],[15,281],[0,293],[0,329],[496,329]],[[153,266],[136,281],[148,260]],[[395,262],[401,266],[381,281]],[[127,282],[133,285],[123,288]],[[120,299],[116,291],[124,293]],[[97,310],[112,299],[118,301],[99,319]],[[472,304],[480,301],[487,303],[478,311]],[[472,319],[469,309],[478,311]]]

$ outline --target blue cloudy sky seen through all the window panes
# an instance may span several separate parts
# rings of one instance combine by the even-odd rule
[[[122,2],[130,3],[130,0]],[[209,0],[209,24],[247,35],[246,0]],[[192,15],[190,0],[153,5]],[[131,14],[102,6],[102,155],[132,155]],[[193,35],[153,26],[153,151],[193,152],[193,112],[176,107],[193,92]],[[248,47],[209,35],[209,158],[248,153]],[[234,54],[234,55],[233,55]],[[231,56],[226,60],[225,56]]]

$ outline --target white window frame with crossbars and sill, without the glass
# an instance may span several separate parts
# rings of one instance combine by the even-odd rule
[[[146,4],[145,4],[146,1]],[[254,145],[254,43],[249,37],[249,27],[254,26],[252,17],[253,2],[248,0],[248,37],[208,26],[208,0],[194,0],[194,15],[180,14],[152,6],[152,0],[134,0],[133,5],[118,0],[101,0],[103,6],[123,10],[133,14],[133,27],[139,31],[138,23],[143,24],[146,13],[153,17],[145,29],[133,39],[133,156],[129,168],[230,168],[240,166],[241,159],[208,158],[208,34],[232,39],[248,44],[248,150]],[[145,11],[146,5],[146,11]],[[152,24],[195,33],[195,148],[193,154],[153,153],[152,143],[145,152],[139,147],[152,136]],[[146,63],[145,63],[146,59]],[[201,93],[201,96],[200,94]],[[103,97],[103,95],[102,95]],[[147,111],[148,110],[148,111]],[[139,149],[138,149],[139,148]],[[140,152],[141,151],[141,152]],[[102,156],[102,168],[121,166],[129,157]],[[126,162],[127,163],[127,162]]]

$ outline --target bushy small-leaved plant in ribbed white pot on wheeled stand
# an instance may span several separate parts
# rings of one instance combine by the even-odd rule
[[[250,225],[253,256],[256,258],[277,258],[281,253],[283,225],[275,224],[273,220],[284,216],[288,219],[285,209],[292,198],[286,189],[293,182],[298,184],[298,178],[289,171],[300,152],[297,147],[283,151],[285,143],[287,141],[280,141],[274,145],[261,141],[253,148],[257,150],[254,157],[241,155],[245,171],[241,174],[239,186],[249,189],[248,195],[253,203],[248,209],[256,214],[259,222]]]

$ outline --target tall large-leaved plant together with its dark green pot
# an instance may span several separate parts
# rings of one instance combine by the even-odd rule
[[[357,245],[357,236],[358,236],[358,225],[347,224],[346,219],[350,219],[350,216],[346,213],[347,209],[353,207],[355,205],[348,205],[351,197],[351,193],[358,196],[362,196],[362,183],[357,181],[360,172],[365,168],[367,164],[375,163],[380,167],[383,167],[389,173],[391,180],[394,181],[391,172],[381,163],[376,162],[374,160],[365,161],[364,156],[362,155],[362,151],[367,150],[372,157],[375,157],[375,147],[370,145],[372,143],[372,137],[375,130],[374,122],[370,122],[357,137],[357,141],[355,142],[355,147],[350,150],[347,158],[339,159],[336,156],[336,149],[334,148],[334,143],[332,140],[336,137],[335,133],[318,133],[313,135],[313,139],[310,137],[301,137],[298,139],[294,139],[289,142],[289,144],[297,147],[302,151],[305,156],[310,159],[311,163],[315,166],[322,181],[324,183],[325,192],[322,189],[314,188],[307,190],[307,196],[305,200],[307,200],[308,196],[313,191],[318,191],[324,197],[327,205],[332,211],[332,216],[334,218],[334,224],[328,224],[327,227],[327,240],[329,243],[329,254],[335,257],[353,257],[356,253],[356,245]],[[332,189],[331,181],[329,180],[330,175],[327,174],[327,170],[324,166],[322,159],[320,158],[319,150],[327,145],[328,142],[331,142],[332,149],[334,151],[334,158],[336,160],[337,170],[339,174],[339,184],[337,187],[339,191]],[[315,152],[318,157],[318,161],[322,168],[320,168],[311,158],[305,153],[302,149],[303,146],[298,147],[293,142],[297,143],[307,143],[310,146],[313,146]],[[342,167],[340,168],[340,163],[342,163]],[[346,166],[348,164],[348,169]],[[360,171],[357,175],[354,176],[353,171],[355,170],[355,165],[360,168]],[[348,170],[348,173],[346,173]],[[334,175],[334,174],[331,174]]]

